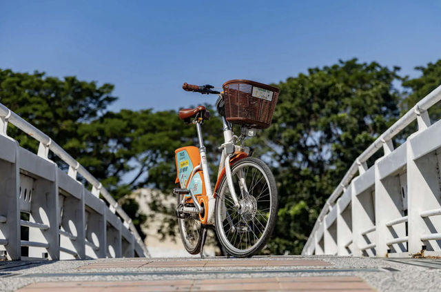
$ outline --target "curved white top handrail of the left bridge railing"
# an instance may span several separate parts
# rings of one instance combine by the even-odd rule
[[[99,193],[103,195],[103,198],[109,204],[109,206],[111,208],[114,208],[114,211],[121,216],[125,228],[127,227],[130,228],[130,231],[132,231],[132,234],[134,235],[136,242],[143,249],[145,256],[150,256],[150,253],[145,247],[145,244],[143,243],[141,236],[139,235],[138,231],[136,231],[136,228],[132,223],[132,219],[129,217],[129,215],[127,215],[127,213],[125,213],[123,208],[119,206],[118,202],[115,201],[112,195],[110,195],[110,193],[104,188],[104,186],[101,184],[101,182],[99,182],[98,179],[96,179],[91,173],[89,173],[79,162],[76,161],[76,159],[74,159],[72,156],[69,155],[69,153],[67,153],[63,148],[61,148],[61,146],[59,146],[56,142],[52,141],[52,139],[48,135],[41,132],[41,130],[39,130],[32,124],[28,123],[28,121],[25,121],[25,119],[23,119],[22,117],[20,117],[19,115],[17,115],[16,113],[14,113],[12,110],[10,110],[8,107],[6,107],[1,103],[0,103],[0,118],[8,123],[13,124],[20,130],[22,130],[24,133],[30,135],[30,137],[33,137],[38,142],[43,144],[43,146],[49,148],[49,150],[51,150],[52,153],[57,155],[63,162],[68,164],[68,166],[76,170],[82,177],[84,177],[84,179],[89,184],[91,184],[94,188],[96,188],[99,191]],[[6,133],[4,134],[6,135]]]

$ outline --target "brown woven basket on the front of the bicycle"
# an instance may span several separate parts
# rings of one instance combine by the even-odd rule
[[[227,81],[222,87],[227,121],[260,129],[271,125],[280,89],[242,79]]]

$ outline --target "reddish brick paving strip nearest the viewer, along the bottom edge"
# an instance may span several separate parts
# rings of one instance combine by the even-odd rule
[[[39,282],[18,292],[111,291],[376,291],[359,277],[309,276],[213,280],[154,280],[124,282]]]

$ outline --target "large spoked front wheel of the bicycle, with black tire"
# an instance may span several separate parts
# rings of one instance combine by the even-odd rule
[[[230,255],[250,257],[265,246],[276,225],[276,180],[269,167],[253,157],[236,162],[232,178],[240,208],[234,207],[224,176],[216,195],[216,234]]]

